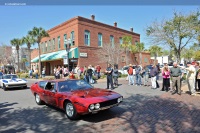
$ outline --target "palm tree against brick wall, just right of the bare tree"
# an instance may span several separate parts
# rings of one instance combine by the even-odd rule
[[[131,36],[123,36],[122,37],[123,40],[123,44],[121,44],[121,47],[124,48],[124,51],[126,53],[126,65],[129,64],[128,63],[128,50],[130,48],[130,46],[132,45],[132,37]]]

